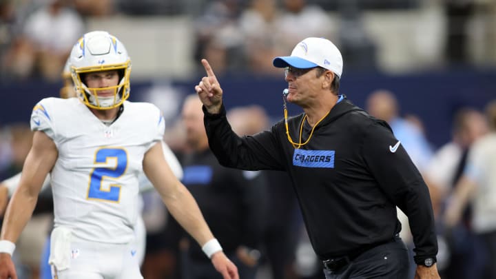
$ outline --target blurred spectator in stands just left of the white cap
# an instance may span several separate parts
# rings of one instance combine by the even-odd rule
[[[280,74],[272,59],[278,56],[276,24],[280,12],[276,0],[251,0],[249,8],[240,18],[240,28],[245,38],[245,54],[249,70],[256,74]]]

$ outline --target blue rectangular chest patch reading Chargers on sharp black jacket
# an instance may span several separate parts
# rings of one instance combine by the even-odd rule
[[[334,150],[295,149],[293,165],[299,167],[334,168]]]

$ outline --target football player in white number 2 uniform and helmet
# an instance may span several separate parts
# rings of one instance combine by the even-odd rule
[[[49,172],[55,217],[52,276],[143,278],[134,226],[144,172],[223,278],[238,278],[196,201],[165,161],[160,111],[126,101],[131,63],[124,45],[107,32],[89,32],[74,45],[70,64],[78,98],[43,99],[32,112],[32,148],[1,231],[0,279],[17,278],[10,258],[14,242]]]

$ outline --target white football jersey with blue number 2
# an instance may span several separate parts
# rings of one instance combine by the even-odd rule
[[[32,130],[45,132],[59,156],[52,169],[55,227],[83,240],[134,239],[138,175],[143,156],[163,137],[161,112],[150,103],[123,103],[105,125],[79,99],[48,98],[33,109]]]

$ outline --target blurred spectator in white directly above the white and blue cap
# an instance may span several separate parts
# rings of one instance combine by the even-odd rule
[[[329,14],[320,6],[307,5],[306,0],[283,0],[282,3],[284,10],[277,20],[278,32],[273,34],[278,42],[278,55],[291,53],[294,45],[307,37],[337,41],[331,34],[333,25]]]

